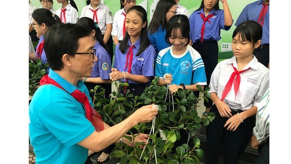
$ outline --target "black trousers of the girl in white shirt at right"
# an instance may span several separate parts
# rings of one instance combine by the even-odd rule
[[[253,133],[252,117],[245,119],[235,131],[224,128],[229,118],[223,118],[214,104],[210,112],[215,112],[215,119],[206,126],[206,156],[205,164],[217,164],[221,151],[225,164],[236,164],[238,157],[244,153]],[[232,111],[232,115],[237,112]]]

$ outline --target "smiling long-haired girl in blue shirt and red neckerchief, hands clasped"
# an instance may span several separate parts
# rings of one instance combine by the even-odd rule
[[[148,39],[147,12],[131,7],[126,15],[126,35],[116,46],[111,80],[129,83],[133,95],[140,96],[154,76],[155,49]]]

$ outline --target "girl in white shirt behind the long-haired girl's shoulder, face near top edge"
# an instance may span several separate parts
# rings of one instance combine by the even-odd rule
[[[125,17],[129,8],[136,5],[136,0],[120,0],[120,10],[116,11],[113,17],[113,27],[111,35],[113,36],[114,44],[123,40],[125,36]]]

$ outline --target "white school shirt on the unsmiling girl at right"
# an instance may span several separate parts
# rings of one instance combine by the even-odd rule
[[[238,70],[236,57],[219,62],[211,75],[210,91],[215,92],[219,99],[227,84],[231,74],[234,72],[232,65]],[[250,69],[248,69],[250,67]],[[258,106],[265,91],[269,88],[269,69],[258,62],[253,55],[253,59],[245,66],[246,72],[240,75],[240,85],[235,97],[233,84],[224,102],[233,109],[248,110],[253,106]]]

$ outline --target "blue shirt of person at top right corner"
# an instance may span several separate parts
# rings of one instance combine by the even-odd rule
[[[246,20],[254,20],[258,21],[261,9],[263,7],[262,5],[263,0],[253,2],[249,5],[247,5],[243,11],[239,14],[238,18],[236,19],[235,26],[240,25],[242,22]],[[268,6],[268,11],[266,12],[265,18],[264,18],[264,24],[263,24],[263,35],[262,35],[262,42],[261,44],[269,44],[270,43],[270,6]]]

